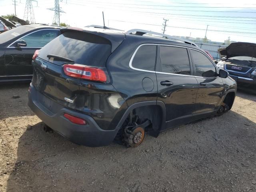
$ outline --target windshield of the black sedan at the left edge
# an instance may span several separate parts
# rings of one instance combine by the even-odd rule
[[[3,32],[0,34],[0,44],[10,41],[13,38],[16,38],[30,30],[33,30],[34,28],[28,27],[28,26],[19,26],[13,29],[10,29],[6,32]]]

